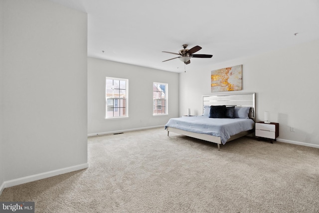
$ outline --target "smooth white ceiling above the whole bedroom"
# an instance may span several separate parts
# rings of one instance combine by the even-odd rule
[[[319,39],[319,0],[51,0],[88,13],[88,56],[183,72]],[[295,33],[298,33],[295,35]],[[104,53],[102,52],[104,51]]]

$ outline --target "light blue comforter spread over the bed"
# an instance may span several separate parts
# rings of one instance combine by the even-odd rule
[[[165,125],[188,132],[213,135],[221,138],[225,144],[232,135],[254,128],[255,122],[252,119],[243,118],[209,118],[207,116],[190,116],[171,118]]]

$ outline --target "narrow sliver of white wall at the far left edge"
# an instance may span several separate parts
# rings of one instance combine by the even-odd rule
[[[0,0],[0,194],[1,185],[4,182],[4,169],[3,169],[3,107],[2,107],[2,97],[3,97],[3,1]]]

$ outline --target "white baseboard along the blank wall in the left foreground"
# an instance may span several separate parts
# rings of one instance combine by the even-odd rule
[[[10,181],[4,181],[0,186],[0,195],[3,192],[3,190],[5,188],[8,188],[8,187],[17,186],[20,184],[29,183],[29,182],[37,181],[37,180],[44,179],[44,178],[50,178],[53,176],[57,176],[57,175],[61,175],[61,174],[69,173],[69,172],[74,172],[77,170],[86,169],[88,167],[89,167],[89,164],[86,163],[86,164],[80,164],[80,165],[67,167],[67,168],[63,168],[63,169],[44,172],[44,173],[40,173],[40,174],[36,174],[36,175],[30,175],[30,176],[26,176],[26,177],[22,177],[22,178],[17,178],[17,179],[13,179]]]

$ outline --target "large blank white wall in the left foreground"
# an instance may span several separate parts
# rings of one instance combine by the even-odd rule
[[[48,0],[2,5],[0,178],[8,187],[87,166],[87,14]]]

